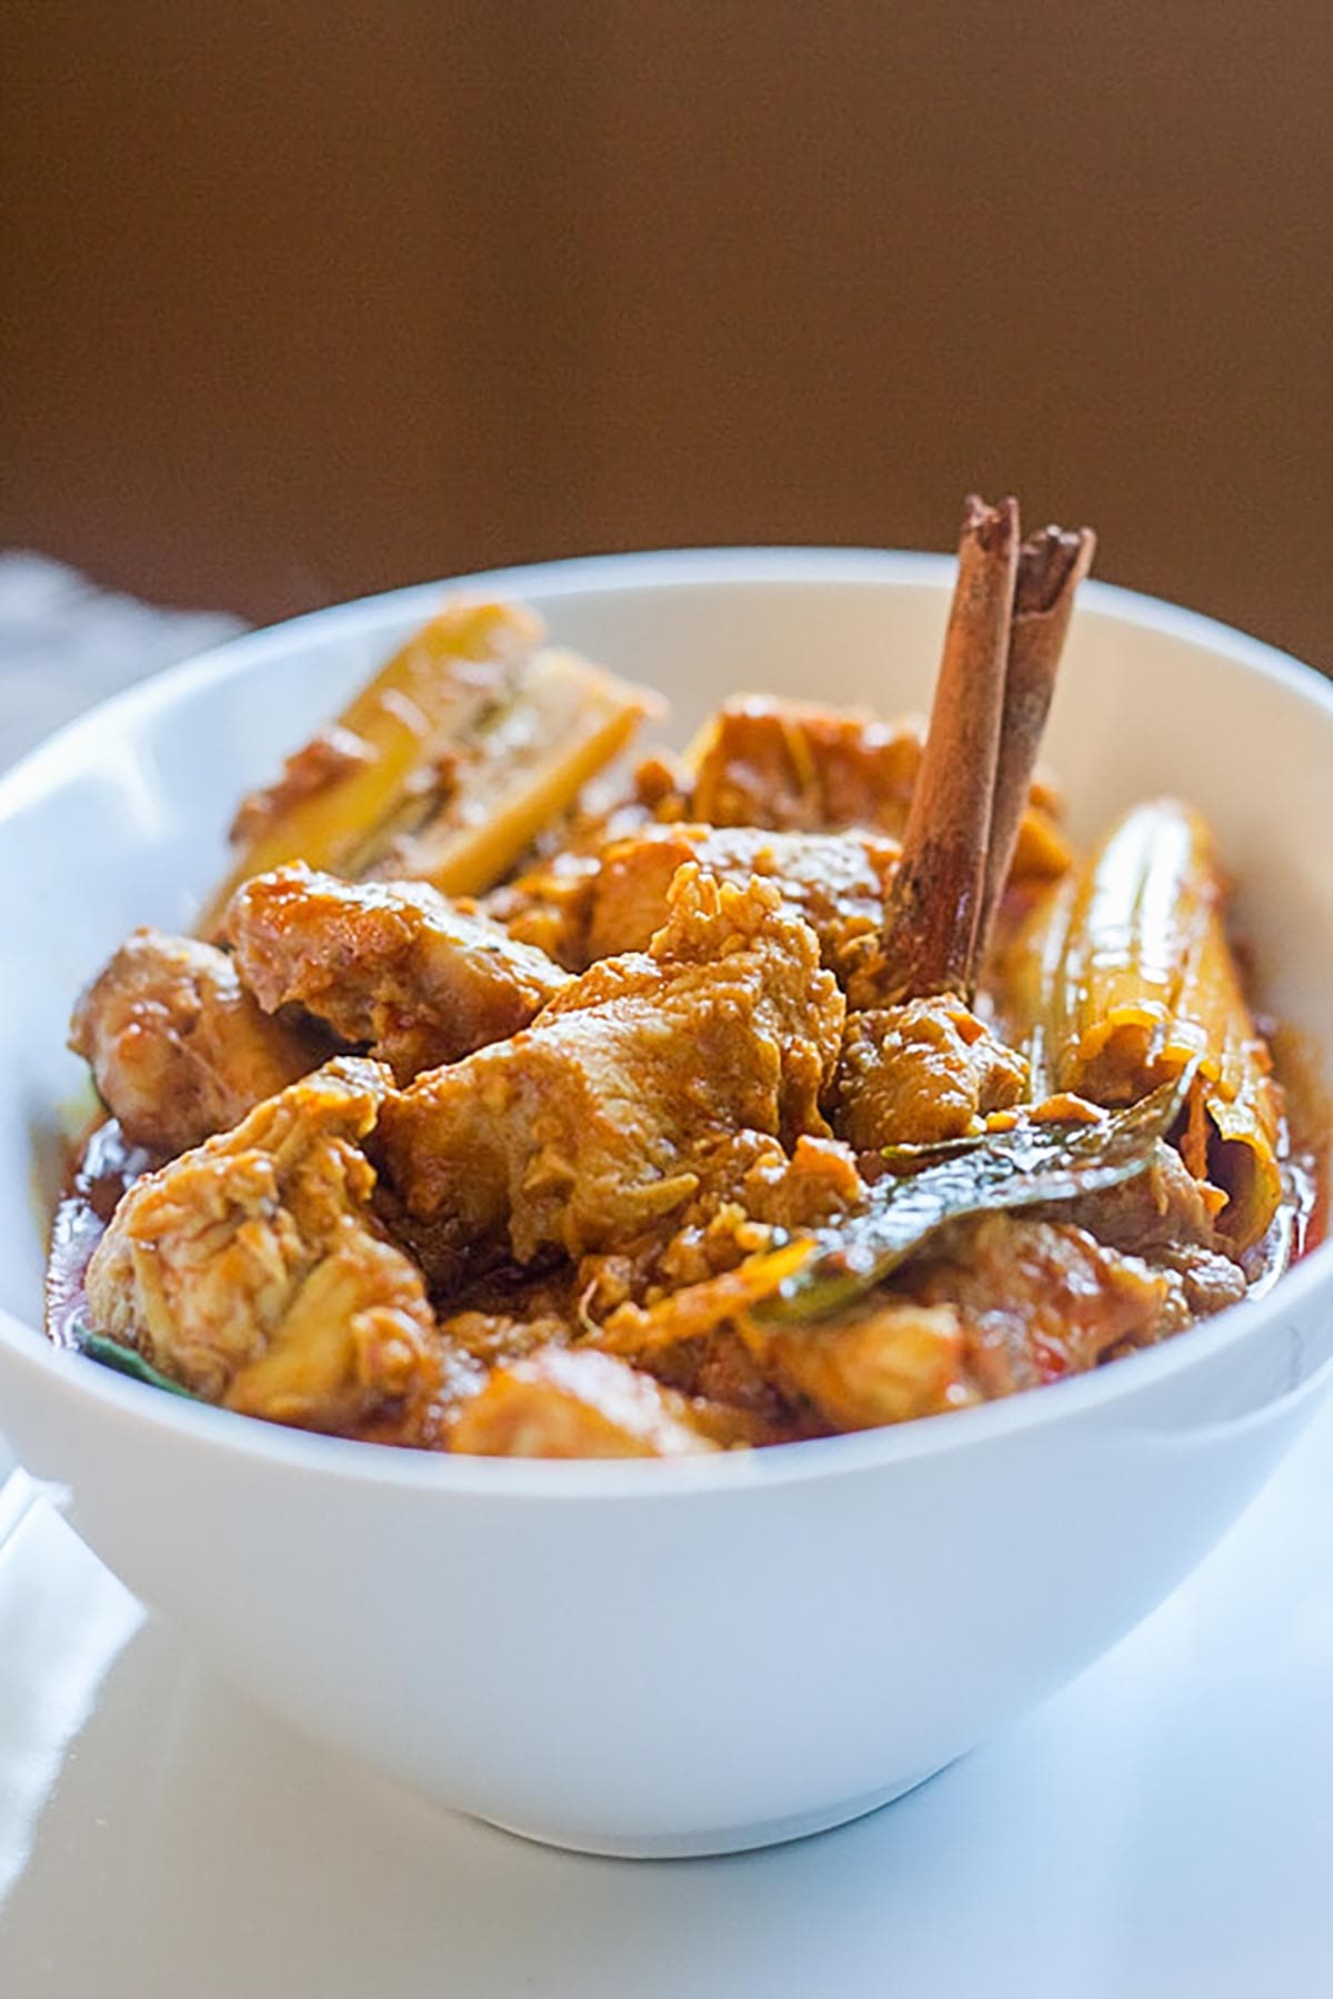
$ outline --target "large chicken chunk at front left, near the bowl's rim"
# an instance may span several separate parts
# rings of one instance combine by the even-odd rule
[[[98,1331],[228,1409],[410,1427],[440,1367],[422,1273],[370,1213],[388,1087],[340,1057],[136,1181],[88,1265]]]

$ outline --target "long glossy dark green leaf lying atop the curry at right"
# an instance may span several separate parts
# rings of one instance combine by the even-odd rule
[[[947,1145],[889,1149],[889,1177],[877,1181],[865,1207],[819,1231],[811,1255],[755,1307],[755,1317],[823,1319],[891,1277],[949,1221],[1073,1201],[1135,1179],[1181,1115],[1191,1081],[1193,1065],[1095,1123],[1019,1123]]]

